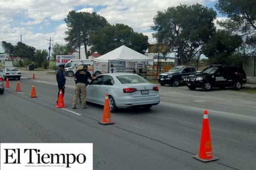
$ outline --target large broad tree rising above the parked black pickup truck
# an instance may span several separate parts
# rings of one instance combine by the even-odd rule
[[[203,53],[204,46],[216,31],[213,23],[216,15],[213,9],[200,4],[168,7],[163,12],[158,11],[154,17],[152,29],[156,32],[153,37],[160,45],[167,45],[168,51],[176,48],[178,64],[184,65]]]

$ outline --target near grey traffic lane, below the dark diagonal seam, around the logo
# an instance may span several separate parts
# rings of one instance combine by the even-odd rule
[[[45,107],[47,104],[35,102],[37,99],[8,90],[2,100],[9,109],[1,113],[1,142],[93,142],[94,169],[205,168],[186,152],[63,109]],[[10,100],[19,105],[11,105]],[[183,164],[183,159],[192,164]],[[223,169],[219,164],[209,167]]]

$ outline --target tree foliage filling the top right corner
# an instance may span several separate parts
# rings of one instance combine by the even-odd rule
[[[231,32],[242,35],[244,47],[250,48],[252,55],[256,54],[256,1],[219,0],[216,9],[228,17],[223,22],[217,22]]]

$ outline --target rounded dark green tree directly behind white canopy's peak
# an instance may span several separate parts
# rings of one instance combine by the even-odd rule
[[[148,37],[134,32],[128,25],[106,25],[99,30],[98,34],[90,35],[89,44],[91,51],[104,54],[122,45],[126,45],[135,51],[145,53],[148,48]]]

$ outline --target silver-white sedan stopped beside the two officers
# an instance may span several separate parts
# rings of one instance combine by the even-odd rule
[[[158,86],[132,73],[100,74],[87,86],[86,101],[104,105],[109,94],[111,112],[118,108],[144,107],[149,109],[160,102]]]

